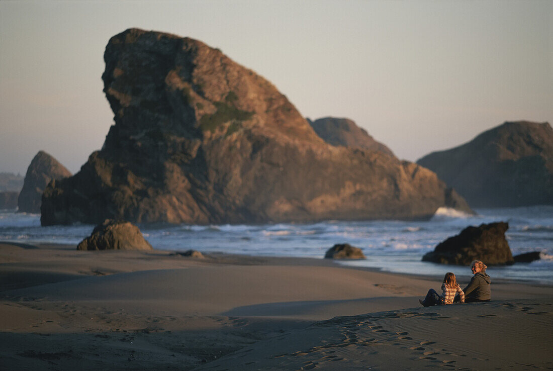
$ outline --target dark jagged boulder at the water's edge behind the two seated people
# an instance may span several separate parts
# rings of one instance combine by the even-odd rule
[[[505,239],[509,224],[505,222],[467,227],[426,253],[422,260],[442,264],[471,265],[481,260],[486,265],[513,264],[513,255]]]

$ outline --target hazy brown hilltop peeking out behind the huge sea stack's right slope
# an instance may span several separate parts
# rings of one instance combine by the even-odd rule
[[[358,147],[379,151],[390,156],[394,153],[384,144],[374,140],[365,129],[356,125],[348,118],[323,117],[307,122],[326,143],[332,145],[343,145],[343,147]]]

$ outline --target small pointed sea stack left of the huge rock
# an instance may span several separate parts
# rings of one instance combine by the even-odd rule
[[[44,151],[39,151],[31,161],[17,205],[18,212],[39,213],[42,194],[48,183],[71,176],[69,170]]]

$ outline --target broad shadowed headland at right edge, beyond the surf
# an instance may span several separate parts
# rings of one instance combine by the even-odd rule
[[[553,129],[547,122],[505,122],[417,163],[472,207],[553,205]]]

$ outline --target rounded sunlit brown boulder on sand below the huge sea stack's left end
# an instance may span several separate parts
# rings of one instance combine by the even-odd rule
[[[96,226],[92,234],[77,245],[77,250],[152,250],[132,223],[105,220]]]

